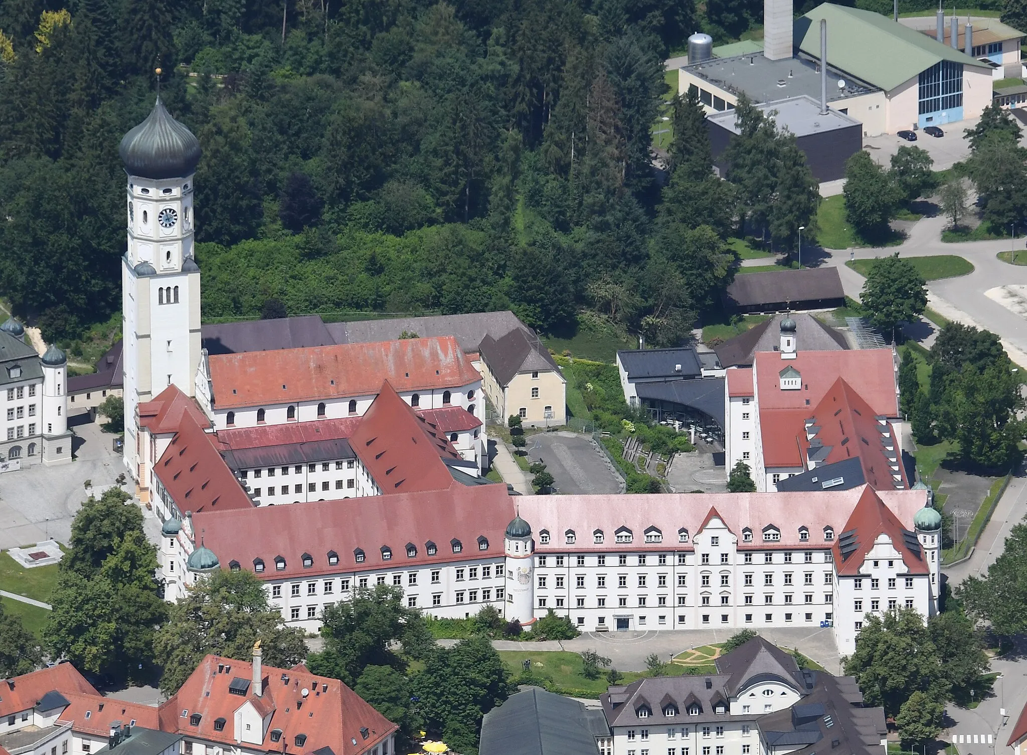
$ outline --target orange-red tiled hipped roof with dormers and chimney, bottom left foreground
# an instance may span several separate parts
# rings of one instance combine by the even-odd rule
[[[219,665],[223,667],[221,673]],[[314,676],[298,668],[272,666],[263,667],[263,677],[262,696],[254,694],[252,683],[248,695],[234,694],[229,691],[229,684],[235,678],[252,680],[253,664],[207,655],[182,688],[160,706],[160,729],[238,747],[235,712],[248,702],[259,712],[271,715],[259,746],[269,753],[300,755],[328,747],[336,755],[358,755],[370,752],[397,728],[338,679]],[[303,690],[308,690],[306,697]],[[183,715],[183,711],[187,713]],[[200,716],[195,726],[191,723],[194,714]],[[220,731],[215,728],[219,718],[225,719]],[[367,739],[362,729],[367,730]],[[271,733],[279,731],[281,735],[274,742]],[[296,737],[300,734],[306,739],[297,744]]]

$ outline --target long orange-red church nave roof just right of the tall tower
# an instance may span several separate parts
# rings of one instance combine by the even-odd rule
[[[370,395],[383,380],[441,390],[482,379],[452,336],[212,354],[210,364],[219,409]]]

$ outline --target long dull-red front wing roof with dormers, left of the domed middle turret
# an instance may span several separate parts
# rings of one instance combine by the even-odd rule
[[[193,518],[193,526],[205,531],[206,548],[222,568],[237,561],[253,569],[259,558],[264,579],[444,563],[453,559],[454,539],[462,546],[462,559],[502,556],[503,533],[515,514],[506,486],[451,482],[446,490],[204,513]],[[485,550],[479,537],[488,541]],[[428,541],[435,543],[434,556],[427,554]],[[417,548],[413,558],[407,557],[408,543]],[[390,549],[390,559],[382,558],[383,545]],[[360,563],[357,549],[365,555]],[[335,566],[328,563],[330,551],[339,556]],[[313,557],[310,568],[303,568],[303,554]],[[277,556],[286,560],[280,571],[274,567]]]

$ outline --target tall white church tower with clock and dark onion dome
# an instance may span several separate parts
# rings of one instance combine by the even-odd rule
[[[137,408],[173,383],[193,394],[199,364],[199,267],[193,259],[196,137],[157,98],[121,140],[128,248],[121,265],[124,462],[139,483]]]

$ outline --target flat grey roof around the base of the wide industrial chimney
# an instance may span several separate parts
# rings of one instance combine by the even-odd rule
[[[733,95],[745,92],[755,103],[799,95],[819,100],[821,96],[821,74],[816,63],[805,58],[771,61],[758,52],[734,58],[714,58],[694,66],[684,66],[681,70]],[[844,86],[839,86],[839,81],[844,81]],[[871,91],[876,91],[876,87],[828,66],[828,102]]]

